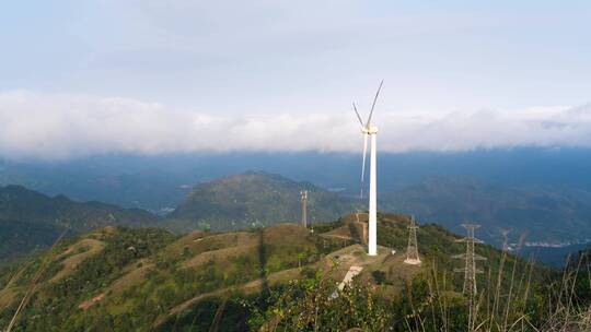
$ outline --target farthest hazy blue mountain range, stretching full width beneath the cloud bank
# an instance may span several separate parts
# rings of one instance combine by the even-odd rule
[[[360,142],[361,146],[361,142]],[[46,194],[96,200],[151,211],[174,209],[194,185],[246,170],[280,174],[358,195],[360,154],[231,153],[155,156],[104,155],[62,162],[0,161],[0,185]],[[472,152],[379,154],[380,192],[426,177],[472,177],[500,188],[563,187],[591,190],[591,150],[512,149]]]

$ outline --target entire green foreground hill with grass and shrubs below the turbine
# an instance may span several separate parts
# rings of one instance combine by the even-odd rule
[[[586,331],[589,260],[564,272],[493,247],[476,251],[478,294],[461,293],[459,236],[421,225],[422,265],[402,263],[408,218],[379,216],[376,258],[363,214],[248,232],[106,227],[0,272],[0,327],[12,331]],[[396,253],[392,253],[392,250]],[[354,283],[337,287],[351,265]]]

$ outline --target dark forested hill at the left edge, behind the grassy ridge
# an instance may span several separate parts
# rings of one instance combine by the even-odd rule
[[[20,186],[0,187],[0,260],[53,244],[69,235],[107,225],[149,226],[159,218],[138,209],[48,197]]]

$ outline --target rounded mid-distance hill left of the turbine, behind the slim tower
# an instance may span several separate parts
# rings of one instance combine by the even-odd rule
[[[300,221],[301,190],[309,191],[311,222],[328,222],[354,210],[352,201],[310,182],[248,171],[195,186],[170,215],[171,223],[182,230],[229,230]]]

